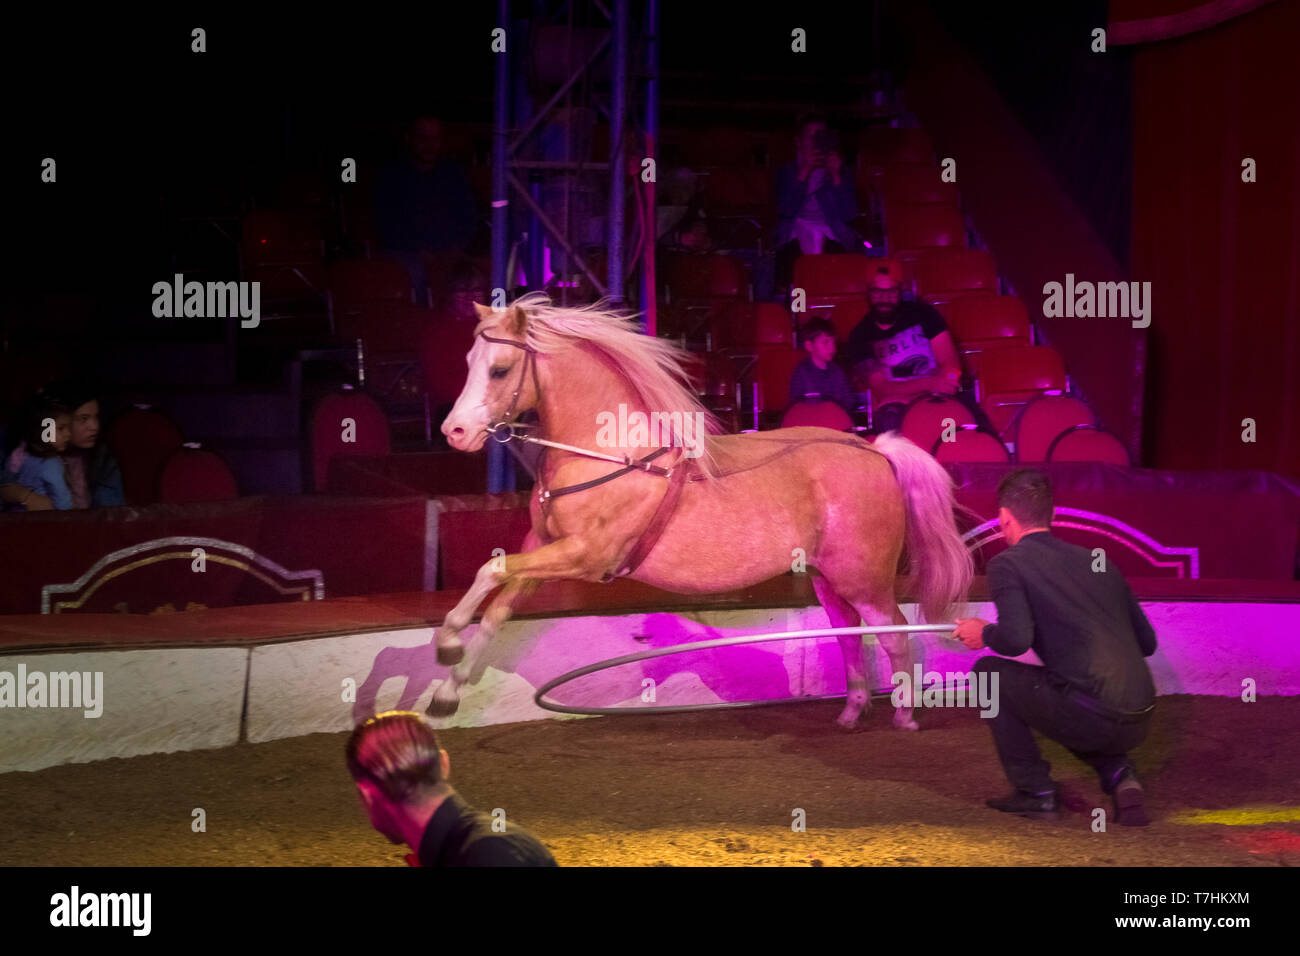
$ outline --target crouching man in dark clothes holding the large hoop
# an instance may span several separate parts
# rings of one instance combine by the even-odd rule
[[[1015,787],[988,805],[1023,817],[1061,816],[1050,766],[1034,731],[1066,747],[1114,799],[1122,826],[1145,826],[1143,791],[1128,750],[1147,737],[1156,688],[1147,657],[1156,633],[1128,583],[1104,555],[1052,535],[1052,489],[1034,468],[1013,471],[997,489],[1008,550],[988,563],[997,623],[957,622],[967,648],[1018,657],[1031,648],[1037,667],[984,657],[974,670],[996,671],[997,715],[989,719],[1002,770]]]

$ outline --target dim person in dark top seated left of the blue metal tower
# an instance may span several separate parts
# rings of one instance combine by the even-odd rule
[[[441,298],[442,273],[464,254],[478,226],[469,179],[442,155],[442,124],[420,116],[407,130],[406,155],[376,173],[374,224],[382,254],[411,273],[416,300]]]

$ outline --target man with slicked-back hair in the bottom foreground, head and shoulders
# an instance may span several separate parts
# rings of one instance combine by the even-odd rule
[[[448,783],[433,722],[410,710],[365,721],[347,740],[347,769],[370,825],[413,852],[412,866],[555,866],[536,836],[476,812]]]

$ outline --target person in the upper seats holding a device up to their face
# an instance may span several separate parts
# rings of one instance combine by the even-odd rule
[[[858,215],[852,172],[820,116],[800,121],[796,160],[776,174],[776,284],[789,287],[794,260],[822,252],[861,252],[849,225]]]

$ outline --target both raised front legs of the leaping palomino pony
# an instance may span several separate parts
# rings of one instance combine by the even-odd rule
[[[556,578],[581,578],[588,571],[589,551],[577,538],[563,538],[554,544],[545,545],[524,554],[510,554],[502,562],[493,558],[478,568],[474,575],[474,584],[443,620],[443,627],[438,628],[434,639],[438,644],[438,662],[446,663],[442,658],[445,646],[455,646],[459,650],[456,666],[433,693],[428,711],[432,717],[450,717],[460,706],[460,687],[469,679],[471,666],[464,658],[464,648],[460,644],[459,633],[473,618],[474,610],[482,600],[502,581],[506,587],[484,614],[482,626],[485,628],[484,641],[480,646],[486,646],[486,641],[510,618],[515,601],[524,593],[534,589],[543,580]],[[504,570],[500,570],[504,563]],[[442,639],[443,628],[454,628],[451,641]]]

